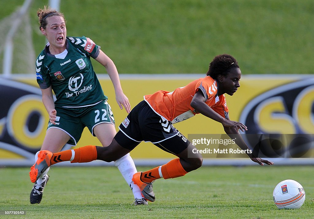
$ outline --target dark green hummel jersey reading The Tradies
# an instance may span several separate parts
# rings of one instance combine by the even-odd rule
[[[57,55],[49,43],[36,60],[37,83],[41,89],[52,87],[59,107],[85,107],[107,97],[93,69],[90,57],[97,58],[100,46],[86,37],[67,37],[66,49]]]

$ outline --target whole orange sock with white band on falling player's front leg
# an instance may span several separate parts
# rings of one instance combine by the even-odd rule
[[[170,160],[168,163],[157,166],[154,169],[145,171],[141,175],[143,182],[153,182],[155,179],[170,179],[176,177],[182,177],[187,174],[180,163],[180,158]]]

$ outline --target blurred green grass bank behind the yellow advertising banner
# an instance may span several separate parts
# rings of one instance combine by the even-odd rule
[[[30,9],[36,55],[45,44],[36,10],[47,3]],[[0,19],[21,4],[0,2]],[[222,53],[243,74],[314,73],[312,0],[62,0],[61,11],[68,36],[92,38],[120,73],[206,73]]]

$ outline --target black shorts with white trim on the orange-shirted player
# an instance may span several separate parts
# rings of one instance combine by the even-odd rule
[[[120,124],[114,137],[123,148],[133,150],[142,141],[151,142],[171,154],[179,154],[190,144],[171,124],[144,100],[137,104]]]

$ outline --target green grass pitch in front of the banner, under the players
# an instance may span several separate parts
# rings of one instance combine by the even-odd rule
[[[312,166],[201,167],[154,182],[156,201],[148,206],[130,205],[133,195],[115,167],[58,166],[49,172],[42,203],[30,205],[28,171],[0,169],[0,210],[26,211],[14,218],[313,218]],[[276,184],[288,178],[306,191],[298,210],[279,210],[272,200]]]

